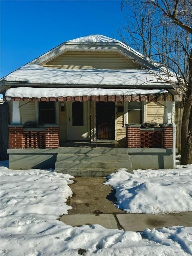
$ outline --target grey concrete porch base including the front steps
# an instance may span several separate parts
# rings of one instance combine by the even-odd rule
[[[9,168],[11,169],[55,169],[57,167],[57,170],[69,174],[70,171],[78,169],[81,176],[88,173],[85,170],[91,169],[92,173],[95,171],[94,168],[104,168],[103,170],[106,170],[107,174],[119,168],[127,168],[127,166],[129,166],[127,168],[129,171],[173,168],[171,148],[64,147],[56,149],[9,149],[8,154]],[[96,165],[100,167],[95,167]],[[76,176],[79,176],[78,172],[76,173]]]

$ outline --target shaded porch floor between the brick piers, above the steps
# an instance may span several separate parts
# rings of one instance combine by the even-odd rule
[[[97,140],[95,141],[65,141],[60,142],[60,148],[62,147],[102,147],[102,148],[126,148],[125,142],[115,140]]]

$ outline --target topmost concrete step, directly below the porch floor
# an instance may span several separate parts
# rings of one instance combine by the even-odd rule
[[[62,147],[59,148],[59,154],[128,154],[127,148],[90,148],[90,147]]]

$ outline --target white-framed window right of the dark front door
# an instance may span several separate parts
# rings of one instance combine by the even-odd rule
[[[124,124],[142,123],[142,102],[124,102]]]

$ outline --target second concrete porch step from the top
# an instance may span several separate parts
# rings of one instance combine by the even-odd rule
[[[128,154],[58,154],[57,161],[122,161],[129,162]]]

